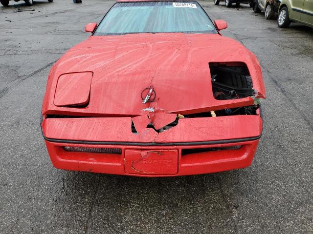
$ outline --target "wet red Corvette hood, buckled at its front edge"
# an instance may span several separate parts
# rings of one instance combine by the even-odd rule
[[[233,39],[218,34],[182,33],[92,36],[71,48],[51,69],[43,113],[138,115],[152,106],[187,114],[222,109],[232,103],[253,103],[252,98],[213,97],[208,64],[227,61],[246,63],[253,88],[265,98],[258,60]],[[88,107],[54,106],[58,77],[84,71],[93,72]],[[141,92],[151,85],[156,100],[143,104]]]

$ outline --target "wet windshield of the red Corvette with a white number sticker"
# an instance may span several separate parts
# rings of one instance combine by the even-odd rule
[[[217,33],[196,1],[115,3],[93,35],[130,33]]]

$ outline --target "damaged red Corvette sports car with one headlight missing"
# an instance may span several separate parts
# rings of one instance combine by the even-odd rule
[[[262,134],[258,59],[197,1],[121,0],[51,68],[54,167],[128,176],[244,168]]]

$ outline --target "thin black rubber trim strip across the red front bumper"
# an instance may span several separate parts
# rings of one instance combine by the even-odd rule
[[[44,135],[43,135],[44,136]],[[133,145],[133,146],[186,146],[186,145],[215,145],[215,144],[227,144],[227,143],[238,143],[244,141],[257,140],[262,136],[258,137],[246,137],[229,140],[211,140],[211,141],[193,141],[193,142],[172,142],[172,143],[143,143],[143,142],[117,142],[117,141],[85,141],[85,140],[62,140],[52,139],[44,136],[45,140],[56,143],[70,143],[70,144],[86,144],[86,145]]]

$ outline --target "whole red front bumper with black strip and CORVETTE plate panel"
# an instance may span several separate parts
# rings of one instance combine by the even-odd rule
[[[164,132],[134,133],[131,117],[45,118],[54,167],[129,176],[184,176],[251,164],[263,121],[257,115],[182,118]]]

